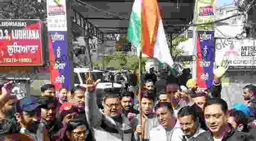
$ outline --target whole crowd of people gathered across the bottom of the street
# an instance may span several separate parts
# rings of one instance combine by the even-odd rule
[[[20,100],[11,94],[9,81],[0,88],[0,140],[254,141],[256,86],[245,86],[244,103],[228,107],[220,81],[227,68],[220,65],[213,87],[200,90],[196,79],[168,72],[157,81],[152,68],[140,93],[134,85],[104,89],[102,109],[95,94],[99,80],[58,94],[46,84],[40,97]]]

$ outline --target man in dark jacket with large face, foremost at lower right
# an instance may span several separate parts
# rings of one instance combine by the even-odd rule
[[[207,99],[204,110],[208,127],[208,141],[254,141],[255,138],[247,133],[239,132],[227,121],[228,107],[223,99]]]

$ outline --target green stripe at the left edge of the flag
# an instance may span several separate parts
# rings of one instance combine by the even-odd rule
[[[128,41],[134,43],[135,48],[138,48],[141,42],[141,19],[135,12],[131,13],[128,25]]]

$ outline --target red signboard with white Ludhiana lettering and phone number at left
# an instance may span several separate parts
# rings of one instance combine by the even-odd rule
[[[0,66],[42,66],[42,22],[0,19]]]

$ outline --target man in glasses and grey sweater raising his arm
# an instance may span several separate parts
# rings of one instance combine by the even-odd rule
[[[120,103],[120,88],[104,89],[102,97],[103,111],[100,111],[96,103],[94,94],[96,85],[82,85],[86,88],[85,92],[85,112],[89,126],[94,129],[96,140],[107,141],[131,141],[133,139],[133,128],[135,120],[129,120],[122,114]]]

